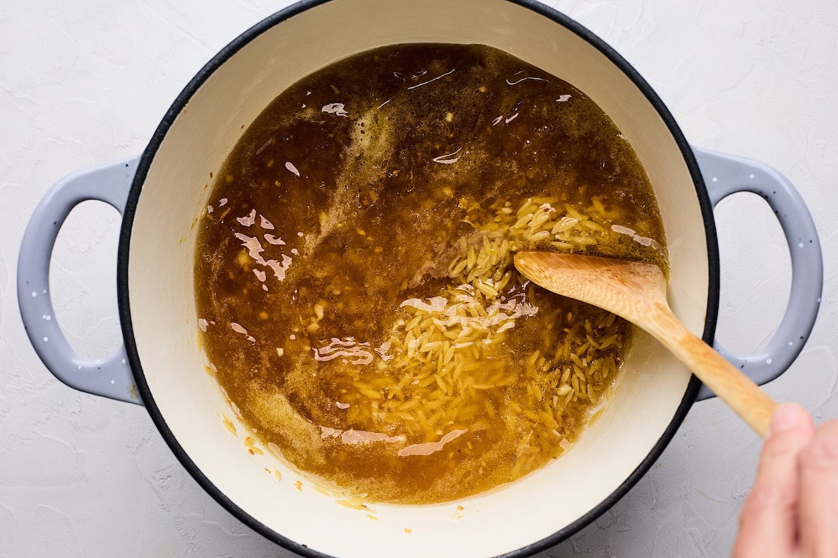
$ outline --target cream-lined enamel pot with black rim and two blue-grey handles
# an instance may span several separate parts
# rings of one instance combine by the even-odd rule
[[[349,54],[409,42],[502,49],[575,85],[611,116],[660,205],[672,308],[707,342],[719,297],[713,207],[732,192],[764,197],[789,242],[789,308],[766,351],[719,350],[759,383],[794,361],[814,325],[823,280],[815,225],[798,193],[768,166],[692,149],[631,65],[578,23],[527,0],[315,0],[256,24],[199,70],[142,156],[82,171],[49,191],[23,237],[18,302],[29,339],[54,376],[145,405],[199,484],[290,550],[365,558],[394,549],[406,558],[531,555],[614,504],[660,456],[696,398],[711,396],[648,335],[635,335],[617,395],[564,457],[488,494],[428,506],[372,505],[376,520],[308,488],[308,479],[270,455],[247,453],[221,425],[220,413],[234,422],[235,413],[202,371],[195,342],[192,224],[207,205],[212,172],[256,115],[297,79]],[[87,199],[123,216],[117,284],[125,344],[97,362],[76,356],[55,320],[46,319],[54,315],[48,275],[56,234],[70,209]],[[265,474],[266,467],[277,468],[282,480]]]

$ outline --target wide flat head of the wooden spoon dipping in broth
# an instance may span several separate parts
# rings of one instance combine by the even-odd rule
[[[642,322],[651,305],[666,305],[666,279],[653,264],[525,250],[515,254],[515,268],[547,290],[635,323]]]

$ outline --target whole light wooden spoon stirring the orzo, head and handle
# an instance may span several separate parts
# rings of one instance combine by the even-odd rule
[[[666,279],[653,264],[575,254],[522,251],[515,267],[547,290],[629,320],[672,351],[707,387],[765,438],[777,403],[670,310]]]

